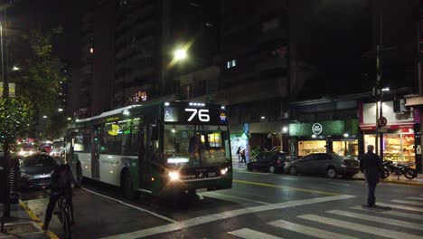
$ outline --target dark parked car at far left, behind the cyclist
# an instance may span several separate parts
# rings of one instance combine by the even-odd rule
[[[19,159],[19,187],[45,188],[58,166],[56,159],[46,153],[37,153]]]

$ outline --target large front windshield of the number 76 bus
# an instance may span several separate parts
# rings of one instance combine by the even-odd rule
[[[211,167],[229,158],[226,126],[165,125],[164,162],[185,167]]]

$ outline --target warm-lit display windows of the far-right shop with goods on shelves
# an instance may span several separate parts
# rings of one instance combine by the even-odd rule
[[[374,145],[375,135],[365,135],[364,144],[365,146]],[[380,151],[378,151],[378,154],[380,154]],[[414,134],[383,134],[383,159],[399,163],[413,163],[415,161]]]

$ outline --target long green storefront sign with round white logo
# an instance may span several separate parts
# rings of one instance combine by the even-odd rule
[[[289,124],[289,136],[291,137],[310,137],[314,134],[322,136],[336,136],[343,135],[344,133],[356,135],[358,132],[358,119]]]

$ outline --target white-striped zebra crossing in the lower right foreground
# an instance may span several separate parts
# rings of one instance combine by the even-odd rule
[[[386,238],[423,239],[423,195],[378,203],[390,209],[351,206],[345,210],[328,210],[324,215],[297,215],[295,221],[276,220],[266,227],[271,233],[249,228],[228,232],[244,239],[283,238]],[[293,220],[294,221],[294,220]],[[335,229],[334,229],[335,228]],[[336,232],[335,232],[336,231]],[[353,234],[352,234],[353,233]],[[280,235],[285,235],[280,237]],[[287,237],[287,235],[289,235]]]

